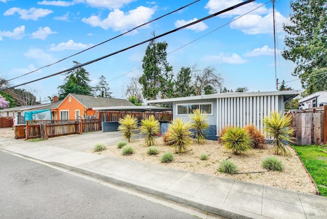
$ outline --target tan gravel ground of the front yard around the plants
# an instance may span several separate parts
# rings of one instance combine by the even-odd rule
[[[191,151],[186,152],[185,154],[174,154],[175,160],[173,162],[163,164],[160,163],[160,155],[166,151],[171,151],[174,153],[175,148],[165,145],[161,138],[157,139],[157,147],[160,150],[160,154],[157,156],[147,155],[148,147],[145,145],[144,139],[134,140],[129,144],[135,148],[135,154],[133,155],[121,155],[121,149],[116,148],[116,145],[109,145],[107,146],[107,150],[95,153],[150,164],[162,165],[175,169],[199,172],[217,177],[263,184],[303,193],[316,193],[314,183],[311,181],[311,178],[309,177],[305,167],[303,167],[293,148],[290,148],[292,153],[291,156],[278,156],[278,159],[280,159],[284,164],[284,170],[282,172],[261,172],[266,171],[266,169],[261,167],[262,160],[265,157],[272,155],[272,152],[268,152],[270,145],[266,145],[264,149],[253,149],[246,154],[234,155],[232,152],[226,150],[217,141],[207,140],[205,144],[198,145],[194,143],[190,147],[190,149],[192,149]],[[200,160],[200,155],[203,152],[208,155],[208,160]],[[220,161],[227,158],[235,162],[238,167],[238,172],[261,173],[230,175],[217,171]]]

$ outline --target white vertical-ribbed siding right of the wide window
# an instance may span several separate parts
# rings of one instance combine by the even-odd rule
[[[217,98],[217,135],[227,125],[254,124],[263,129],[263,118],[272,111],[284,111],[283,97],[277,95]]]

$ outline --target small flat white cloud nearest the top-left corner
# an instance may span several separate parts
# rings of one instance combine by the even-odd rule
[[[53,11],[49,9],[42,8],[30,8],[29,10],[21,8],[10,8],[4,13],[4,15],[13,15],[16,12],[20,15],[19,18],[23,20],[37,20],[40,17],[45,17],[46,15],[53,13]]]

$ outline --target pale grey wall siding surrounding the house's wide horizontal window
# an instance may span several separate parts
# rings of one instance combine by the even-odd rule
[[[212,114],[208,115],[208,123],[209,125],[216,125],[217,121],[217,99],[203,99],[203,100],[183,100],[183,101],[176,101],[173,103],[173,119],[179,117],[184,119],[185,121],[189,121],[189,115],[177,115],[177,105],[178,104],[195,104],[195,103],[212,103]]]

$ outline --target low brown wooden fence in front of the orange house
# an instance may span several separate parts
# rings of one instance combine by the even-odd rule
[[[99,119],[83,120],[28,120],[26,139],[82,134],[99,130]]]

